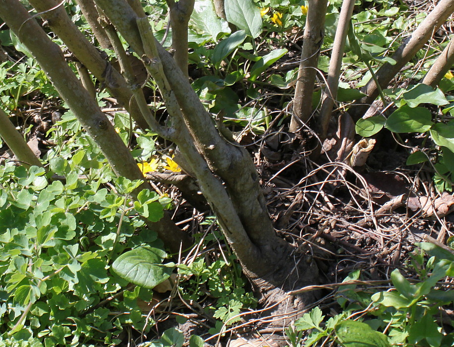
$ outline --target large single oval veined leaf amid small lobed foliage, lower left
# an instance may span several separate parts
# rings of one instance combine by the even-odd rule
[[[162,264],[165,257],[166,252],[158,248],[136,248],[121,254],[112,270],[126,281],[153,289],[172,273],[173,267]]]

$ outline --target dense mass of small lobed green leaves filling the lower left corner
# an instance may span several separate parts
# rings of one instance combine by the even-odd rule
[[[149,266],[148,278],[137,284],[151,288],[171,272],[170,264],[161,265],[166,256],[162,242],[145,231],[138,211],[128,207],[127,194],[140,182],[118,178],[114,191],[100,180],[79,178],[71,168],[83,163],[85,154],[76,152],[72,161],[55,158],[51,168],[63,176],[59,180],[42,168],[27,170],[12,162],[0,168],[0,329],[5,346],[21,346],[19,341],[27,346],[114,343],[124,324],[139,329],[145,324],[135,303],[143,295],[139,290],[125,291],[128,300],[123,302],[101,304],[127,285],[122,270],[133,262],[131,252]],[[163,211],[158,199],[148,194],[141,202],[154,206],[148,215],[155,220]],[[142,254],[144,250],[156,256]],[[110,259],[115,259],[114,273]],[[108,319],[117,310],[130,314]]]

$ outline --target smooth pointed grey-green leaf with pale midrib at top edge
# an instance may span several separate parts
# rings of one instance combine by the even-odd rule
[[[262,33],[260,9],[252,0],[225,0],[227,21],[257,38]]]

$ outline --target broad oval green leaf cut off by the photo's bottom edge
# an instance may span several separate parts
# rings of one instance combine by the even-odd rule
[[[336,325],[335,332],[343,347],[391,347],[386,335],[366,323],[343,321]]]

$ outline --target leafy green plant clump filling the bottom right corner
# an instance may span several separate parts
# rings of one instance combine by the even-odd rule
[[[343,347],[452,346],[454,333],[445,331],[437,318],[439,307],[454,301],[452,291],[441,289],[439,284],[453,276],[454,255],[432,243],[416,245],[420,248],[406,268],[416,273],[417,281],[408,281],[396,269],[391,273],[393,287],[387,291],[370,292],[356,284],[340,286],[337,300],[343,312],[326,321],[319,307],[305,313],[286,329],[290,346],[309,347],[322,339],[325,343],[336,339]],[[356,270],[343,283],[359,276]],[[362,322],[351,319],[358,315],[356,311],[362,313]]]

